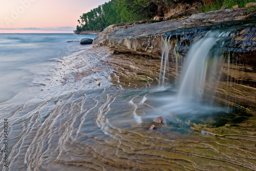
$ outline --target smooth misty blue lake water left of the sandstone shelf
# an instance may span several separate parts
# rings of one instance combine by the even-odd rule
[[[27,100],[47,82],[56,61],[83,50],[95,35],[0,34],[0,103]]]

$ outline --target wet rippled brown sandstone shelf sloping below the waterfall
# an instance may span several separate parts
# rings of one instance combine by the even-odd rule
[[[168,123],[148,130],[156,102],[141,102],[156,95],[150,86],[160,60],[108,51],[97,47],[61,59],[40,95],[51,96],[4,108],[20,118],[9,119],[10,170],[255,170],[255,114],[169,115]]]

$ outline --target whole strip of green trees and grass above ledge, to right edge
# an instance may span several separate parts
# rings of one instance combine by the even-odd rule
[[[153,20],[154,16],[163,16],[167,10],[175,8],[178,3],[197,3],[200,7],[198,12],[208,12],[219,10],[222,6],[245,7],[249,2],[255,2],[255,0],[111,0],[83,13],[77,20],[79,25],[76,31],[102,31],[117,23]]]

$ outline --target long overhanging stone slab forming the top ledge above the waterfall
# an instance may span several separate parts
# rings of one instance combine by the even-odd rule
[[[104,29],[94,39],[93,44],[109,46],[112,53],[132,52],[160,57],[164,36],[175,34],[175,37],[183,37],[183,39],[190,37],[189,42],[181,42],[188,47],[190,40],[205,31],[240,26],[255,19],[255,10],[248,13],[246,8],[240,8],[193,14],[179,20],[155,23],[140,21],[141,24],[139,25],[135,22],[123,23],[122,25],[111,25]],[[251,27],[255,27],[255,23]],[[237,48],[243,48],[242,44],[241,46],[237,45]],[[186,51],[183,52],[183,54],[185,53]]]

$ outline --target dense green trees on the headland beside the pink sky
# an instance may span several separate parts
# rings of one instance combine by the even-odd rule
[[[76,31],[102,31],[104,28],[136,20],[151,19],[163,16],[167,6],[185,2],[179,0],[111,0],[87,13],[77,20]]]

